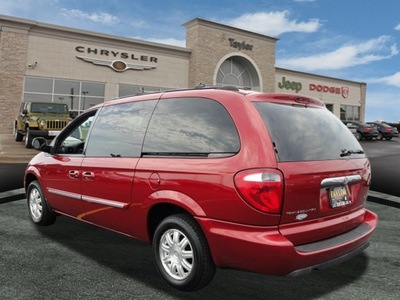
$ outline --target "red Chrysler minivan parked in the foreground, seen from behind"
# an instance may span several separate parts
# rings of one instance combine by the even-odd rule
[[[58,215],[152,243],[173,287],[216,268],[300,275],[368,247],[370,163],[316,99],[231,87],[143,94],[90,108],[29,163],[38,225]]]

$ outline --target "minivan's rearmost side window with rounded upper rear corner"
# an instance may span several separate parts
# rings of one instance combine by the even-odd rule
[[[225,107],[211,99],[161,100],[150,121],[144,155],[233,155],[239,151],[236,126]]]

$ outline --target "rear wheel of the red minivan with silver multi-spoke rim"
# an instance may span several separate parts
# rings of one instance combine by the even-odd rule
[[[189,215],[172,215],[161,221],[154,233],[153,252],[157,270],[178,290],[195,291],[214,278],[216,267],[208,243]]]

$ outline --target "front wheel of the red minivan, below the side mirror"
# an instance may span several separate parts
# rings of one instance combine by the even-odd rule
[[[29,216],[33,223],[48,226],[56,221],[56,214],[47,204],[43,190],[37,180],[32,181],[26,192]]]

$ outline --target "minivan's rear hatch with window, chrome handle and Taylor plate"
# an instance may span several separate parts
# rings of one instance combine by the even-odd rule
[[[370,184],[361,145],[318,100],[282,99],[254,102],[284,176],[280,232],[299,245],[357,227]]]

